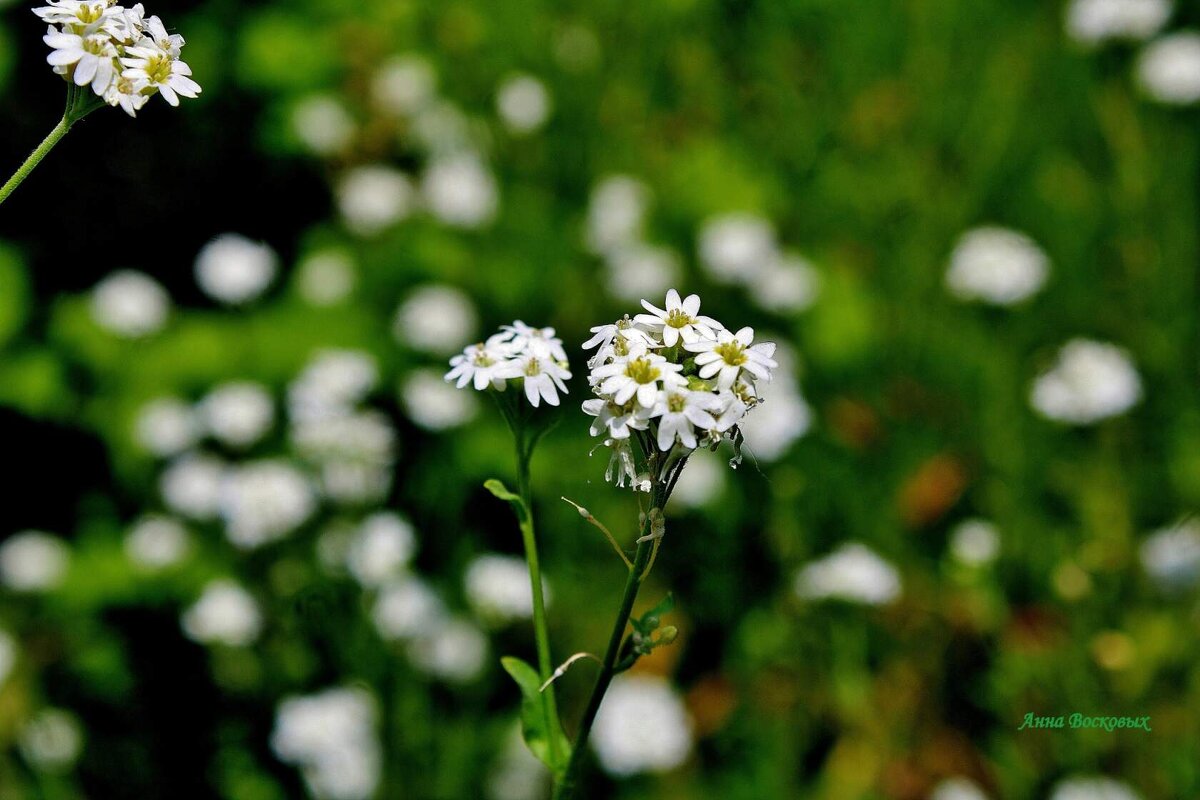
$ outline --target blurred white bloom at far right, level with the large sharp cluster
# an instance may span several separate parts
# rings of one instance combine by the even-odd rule
[[[1090,425],[1123,414],[1141,399],[1141,378],[1121,348],[1072,339],[1033,383],[1030,402],[1046,419]]]

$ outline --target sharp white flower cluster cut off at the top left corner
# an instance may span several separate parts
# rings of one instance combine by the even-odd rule
[[[200,94],[180,60],[184,37],[146,17],[140,2],[126,8],[112,0],[50,0],[34,13],[48,25],[42,41],[54,72],[130,116],[154,95],[179,106],[180,96]]]

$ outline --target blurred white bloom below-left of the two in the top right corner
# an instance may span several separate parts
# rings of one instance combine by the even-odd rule
[[[1028,236],[1004,228],[976,228],[955,245],[946,285],[959,300],[1012,306],[1042,288],[1049,265]]]

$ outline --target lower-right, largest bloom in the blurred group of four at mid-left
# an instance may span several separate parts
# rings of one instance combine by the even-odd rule
[[[232,469],[221,483],[220,498],[226,535],[246,549],[287,536],[317,510],[307,479],[283,461]]]

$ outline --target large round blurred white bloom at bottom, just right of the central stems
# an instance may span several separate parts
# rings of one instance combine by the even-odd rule
[[[665,679],[619,675],[596,714],[592,747],[605,771],[618,777],[666,772],[691,753],[691,720]]]

